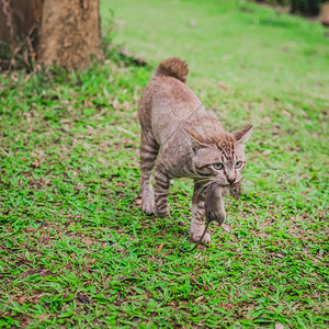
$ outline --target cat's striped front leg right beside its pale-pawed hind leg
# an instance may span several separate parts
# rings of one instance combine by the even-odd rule
[[[160,168],[156,168],[155,172],[155,203],[157,217],[169,216],[168,192],[170,179]]]

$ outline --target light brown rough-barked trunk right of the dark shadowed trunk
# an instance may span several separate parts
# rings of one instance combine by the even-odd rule
[[[77,69],[92,55],[103,58],[99,0],[45,0],[37,61]]]

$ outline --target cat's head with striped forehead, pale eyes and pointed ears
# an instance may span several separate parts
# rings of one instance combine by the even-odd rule
[[[252,126],[229,134],[225,132],[200,136],[185,129],[193,150],[195,174],[211,178],[222,186],[241,180],[246,167],[245,144],[251,136]]]

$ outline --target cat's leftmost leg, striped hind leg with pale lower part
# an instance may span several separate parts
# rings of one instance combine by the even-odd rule
[[[155,213],[155,194],[151,185],[151,174],[159,154],[159,145],[150,132],[141,132],[139,154],[141,207],[145,214],[151,215]]]

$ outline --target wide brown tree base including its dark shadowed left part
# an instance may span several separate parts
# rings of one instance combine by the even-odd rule
[[[99,0],[0,0],[0,69],[14,60],[84,68],[103,58]]]

